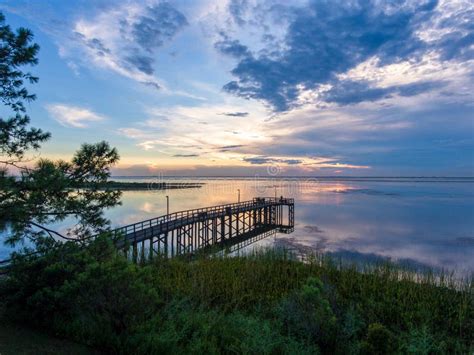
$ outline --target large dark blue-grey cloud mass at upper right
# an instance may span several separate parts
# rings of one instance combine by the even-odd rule
[[[238,4],[232,2],[233,7]],[[284,49],[278,55],[268,54],[271,48],[259,54],[249,53],[245,45],[227,37],[216,44],[221,52],[240,58],[232,70],[236,80],[227,83],[224,90],[246,99],[262,100],[275,111],[295,106],[299,87],[314,89],[331,84],[333,89],[326,94],[326,99],[341,104],[374,101],[395,93],[411,96],[431,90],[436,85],[376,88],[363,82],[339,82],[337,75],[373,56],[379,58],[380,65],[407,59],[416,61],[433,49],[442,53],[444,59],[472,57],[473,22],[466,19],[474,14],[470,16],[468,11],[440,25],[451,29],[459,27],[459,33],[432,43],[419,38],[418,31],[430,21],[437,4],[437,0],[390,4],[375,0],[313,0],[302,8],[274,7],[273,11],[285,11],[282,16],[290,21]],[[234,18],[240,16],[236,8],[231,14]]]

